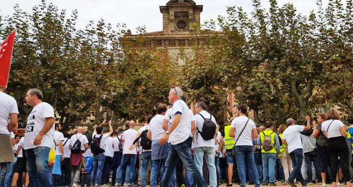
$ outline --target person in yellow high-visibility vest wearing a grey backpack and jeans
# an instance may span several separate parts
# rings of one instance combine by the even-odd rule
[[[261,146],[263,185],[277,186],[275,183],[276,160],[280,152],[278,135],[273,131],[272,123],[267,123],[265,127],[266,129],[257,138],[257,145]]]

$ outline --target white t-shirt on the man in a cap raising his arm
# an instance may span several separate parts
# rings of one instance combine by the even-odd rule
[[[296,149],[303,149],[300,135],[303,130],[304,127],[300,125],[291,125],[284,130],[282,139],[285,139],[288,144],[288,153],[291,153]]]

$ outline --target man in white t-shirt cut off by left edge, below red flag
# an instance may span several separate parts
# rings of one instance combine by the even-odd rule
[[[17,126],[17,115],[19,114],[16,100],[3,93],[4,87],[0,87],[0,170],[1,163],[13,161],[13,145],[10,132]],[[9,120],[10,119],[10,120]],[[1,176],[0,176],[1,178]]]

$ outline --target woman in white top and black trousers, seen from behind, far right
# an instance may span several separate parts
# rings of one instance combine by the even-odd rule
[[[328,137],[328,155],[331,161],[331,176],[336,177],[338,162],[342,168],[344,181],[351,186],[350,172],[348,167],[348,146],[346,143],[346,129],[345,125],[340,121],[340,117],[336,110],[329,110],[327,112],[327,121],[322,123],[322,131]],[[339,185],[339,182],[333,183],[333,187]]]

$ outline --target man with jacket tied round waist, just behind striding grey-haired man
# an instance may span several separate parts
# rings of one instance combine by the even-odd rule
[[[151,187],[157,187],[157,176],[163,175],[164,163],[168,157],[168,144],[159,145],[159,139],[165,134],[162,127],[164,115],[167,111],[167,106],[159,104],[157,106],[157,114],[150,121],[150,128],[147,137],[151,139]]]

